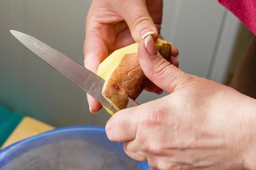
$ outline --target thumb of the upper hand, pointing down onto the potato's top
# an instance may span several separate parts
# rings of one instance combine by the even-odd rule
[[[136,42],[140,42],[148,35],[152,35],[153,39],[157,40],[157,27],[148,13],[146,0],[117,0],[113,6],[128,24]]]

